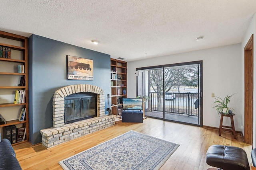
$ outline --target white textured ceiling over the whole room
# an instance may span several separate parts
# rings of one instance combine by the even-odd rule
[[[0,30],[135,61],[240,43],[256,0],[1,0]],[[202,41],[196,37],[204,36]],[[94,45],[91,40],[100,43]],[[147,56],[145,55],[147,53]]]

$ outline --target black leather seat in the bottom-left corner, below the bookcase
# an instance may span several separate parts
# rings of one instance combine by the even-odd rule
[[[0,170],[22,170],[8,139],[2,139],[0,142]]]

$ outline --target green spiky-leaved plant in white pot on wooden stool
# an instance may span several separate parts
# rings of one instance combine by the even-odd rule
[[[234,111],[234,109],[231,107],[228,107],[228,103],[230,102],[230,98],[233,95],[234,94],[232,94],[231,96],[227,95],[224,97],[224,99],[215,97],[214,104],[216,104],[216,106],[214,106],[212,108],[216,108],[218,113],[224,113],[225,115],[232,113],[232,111]]]

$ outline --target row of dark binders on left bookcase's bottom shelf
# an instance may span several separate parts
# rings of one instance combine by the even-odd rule
[[[26,139],[27,126],[17,128],[15,125],[4,127],[4,138],[8,139],[11,144],[24,141]]]

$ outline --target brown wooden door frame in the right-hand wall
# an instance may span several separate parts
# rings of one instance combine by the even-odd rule
[[[244,47],[244,142],[253,144],[253,34]]]

